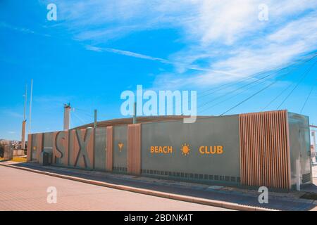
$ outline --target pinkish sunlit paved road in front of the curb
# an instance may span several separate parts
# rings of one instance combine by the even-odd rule
[[[49,187],[56,188],[56,198]],[[54,188],[49,191],[54,191]],[[226,210],[0,166],[2,210]],[[56,199],[56,203],[48,203]],[[52,197],[53,196],[53,197]]]

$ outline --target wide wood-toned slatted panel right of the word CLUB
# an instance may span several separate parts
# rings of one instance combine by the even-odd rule
[[[289,189],[287,110],[241,114],[239,120],[242,185]]]

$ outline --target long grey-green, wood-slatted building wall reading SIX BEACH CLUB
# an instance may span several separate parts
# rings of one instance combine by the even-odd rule
[[[261,179],[263,176],[276,176],[270,178],[276,180],[294,173],[288,167],[278,170],[279,162],[283,160],[283,154],[278,149],[293,152],[291,155],[295,155],[294,158],[299,153],[302,157],[307,153],[304,145],[294,148],[294,140],[302,140],[302,137],[292,126],[289,136],[287,120],[275,120],[275,115],[280,113],[287,115],[287,111],[273,111],[247,115],[248,120],[240,120],[245,115],[228,115],[198,118],[192,124],[184,124],[182,121],[149,122],[30,134],[27,160],[38,162],[42,151],[47,151],[53,153],[52,163],[63,167],[161,176],[208,184],[289,189],[289,185],[277,183],[272,186]],[[270,122],[271,115],[273,122]],[[302,121],[301,118],[297,120]],[[263,124],[268,129],[261,129]],[[306,129],[306,122],[301,124]],[[283,131],[284,137],[280,135],[281,129],[287,129]],[[273,144],[280,143],[276,141],[280,139],[284,140],[283,148],[279,144],[278,147]],[[286,148],[289,141],[291,148]],[[306,142],[308,140],[305,139],[304,143]],[[256,164],[266,162],[266,155],[273,159],[269,162],[273,172],[264,163]],[[304,168],[303,173],[307,171]],[[244,178],[247,176],[248,183],[242,182],[242,173]]]

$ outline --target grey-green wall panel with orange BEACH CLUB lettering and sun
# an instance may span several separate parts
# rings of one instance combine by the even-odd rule
[[[240,184],[239,117],[142,124],[142,174]]]

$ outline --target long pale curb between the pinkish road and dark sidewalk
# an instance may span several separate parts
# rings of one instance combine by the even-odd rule
[[[161,197],[161,198],[169,198],[169,199],[173,199],[173,200],[181,200],[181,201],[185,201],[185,202],[189,202],[189,203],[197,203],[197,204],[201,204],[201,205],[210,205],[210,206],[214,206],[214,207],[223,207],[223,208],[230,209],[230,210],[278,211],[278,210],[271,210],[271,209],[262,208],[262,207],[254,207],[254,206],[249,206],[249,205],[240,205],[240,204],[237,204],[237,203],[228,203],[228,202],[219,201],[219,200],[209,200],[209,199],[205,199],[205,198],[189,197],[189,196],[186,196],[186,195],[177,195],[177,194],[171,194],[171,193],[164,193],[164,192],[161,192],[161,191],[152,191],[152,190],[144,189],[144,188],[134,188],[134,187],[118,185],[118,184],[109,184],[109,183],[102,182],[102,181],[94,181],[94,180],[83,179],[83,178],[79,178],[79,177],[75,177],[75,176],[55,174],[55,173],[52,173],[52,172],[44,172],[44,171],[40,171],[40,170],[37,170],[37,169],[16,167],[14,165],[5,165],[5,164],[2,164],[2,163],[0,163],[0,165],[2,165],[4,167],[11,167],[11,168],[14,168],[14,169],[22,169],[22,170],[25,170],[25,171],[28,171],[28,172],[35,172],[37,174],[55,176],[55,177],[62,178],[62,179],[69,179],[69,180],[72,180],[72,181],[79,181],[79,182],[86,183],[86,184],[104,186],[104,187],[107,187],[107,188],[114,188],[114,189],[118,189],[118,190],[122,190],[122,191],[130,191],[130,192],[134,192],[134,193],[141,193],[141,194],[144,194],[144,195],[152,195],[152,196]]]

